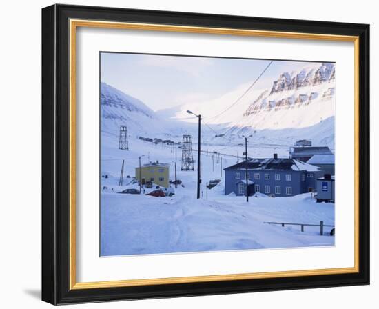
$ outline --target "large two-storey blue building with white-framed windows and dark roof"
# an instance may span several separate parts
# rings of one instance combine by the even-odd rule
[[[246,181],[247,168],[247,181]],[[261,192],[276,197],[289,197],[316,189],[316,179],[322,176],[317,166],[296,159],[251,159],[225,170],[225,195],[254,195]]]

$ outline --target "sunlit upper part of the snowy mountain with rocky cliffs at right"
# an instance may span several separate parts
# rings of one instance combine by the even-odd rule
[[[336,68],[334,63],[309,63],[300,70],[283,72],[263,89],[250,83],[214,100],[187,103],[170,113],[186,119],[186,110],[197,110],[207,123],[225,124],[228,130],[278,130],[316,126],[334,117]]]

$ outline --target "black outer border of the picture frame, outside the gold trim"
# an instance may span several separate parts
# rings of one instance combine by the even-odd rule
[[[359,37],[359,272],[70,290],[69,19]],[[369,284],[369,25],[53,5],[42,10],[42,300],[54,305]]]

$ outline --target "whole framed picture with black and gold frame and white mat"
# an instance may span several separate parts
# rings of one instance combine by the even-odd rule
[[[42,299],[369,284],[369,25],[42,10]]]

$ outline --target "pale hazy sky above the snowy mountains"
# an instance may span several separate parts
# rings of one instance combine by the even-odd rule
[[[101,81],[152,110],[215,99],[252,83],[271,60],[101,53]],[[274,61],[254,86],[269,88],[280,73],[307,63]]]

